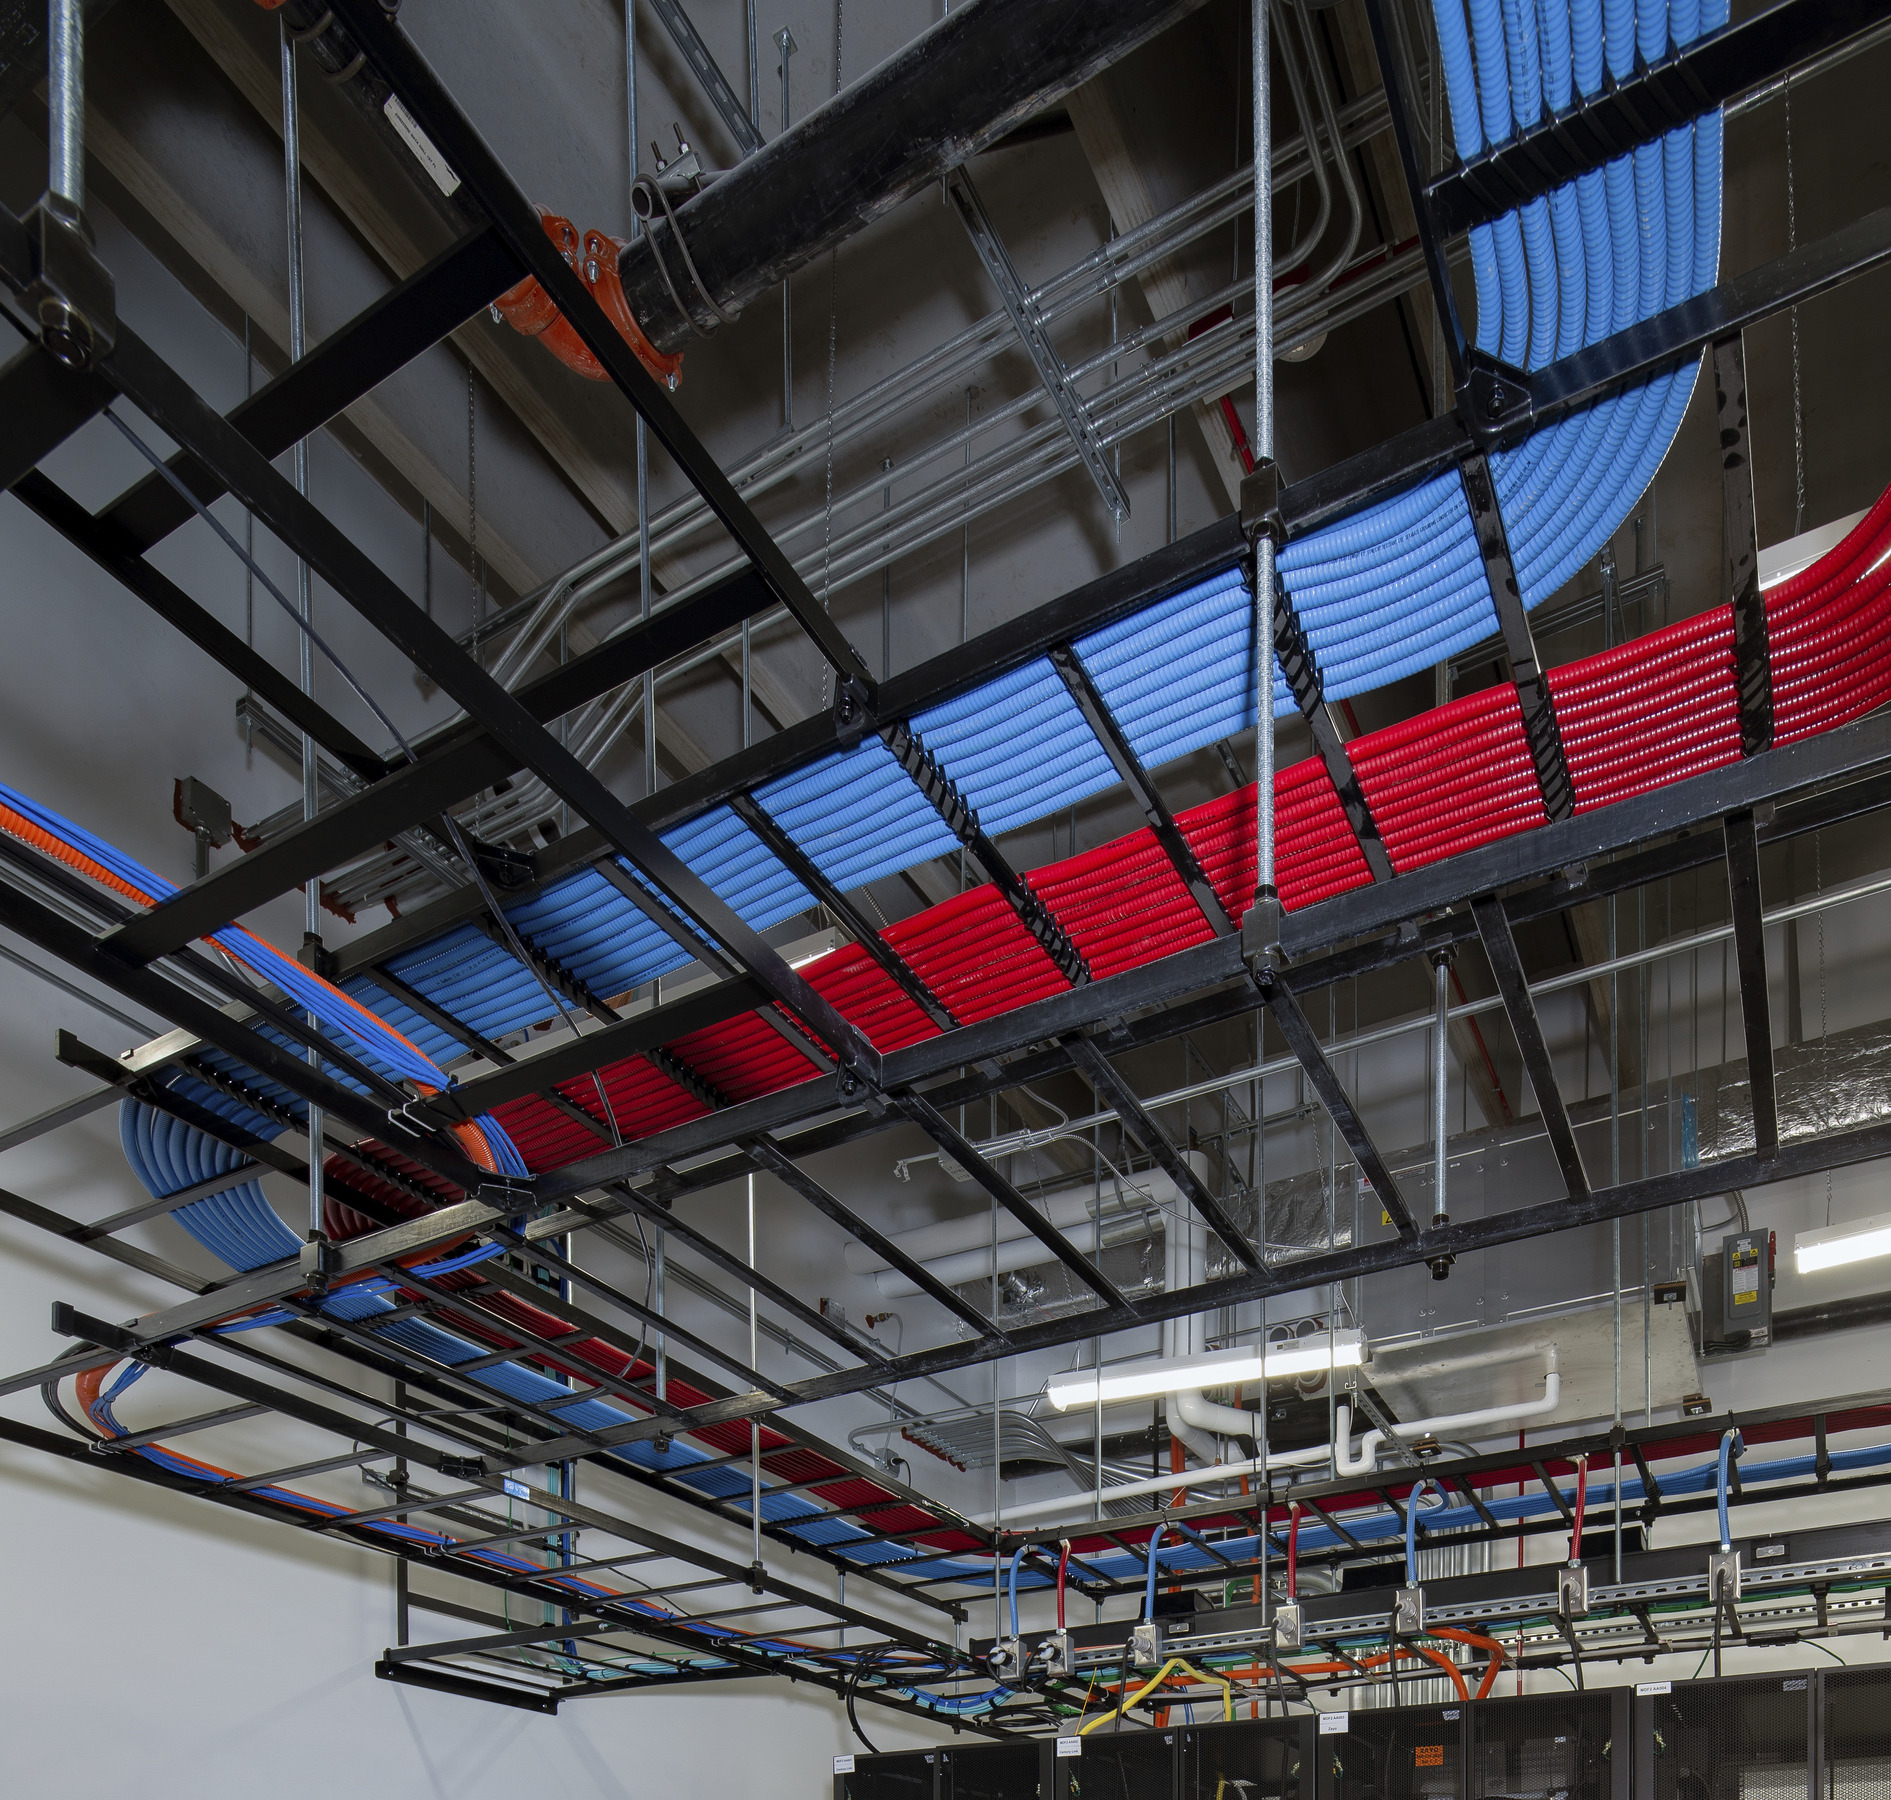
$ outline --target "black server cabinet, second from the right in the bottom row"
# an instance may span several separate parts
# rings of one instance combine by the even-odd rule
[[[1806,1671],[1636,1685],[1636,1800],[1812,1800]]]

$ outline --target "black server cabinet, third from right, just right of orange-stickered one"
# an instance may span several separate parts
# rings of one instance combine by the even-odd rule
[[[1628,1722],[1626,1688],[1477,1700],[1466,1800],[1630,1800]]]

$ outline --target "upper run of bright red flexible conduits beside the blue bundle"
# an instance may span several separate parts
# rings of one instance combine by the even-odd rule
[[[1842,545],[1766,596],[1774,743],[1793,743],[1891,700],[1891,490]],[[1549,673],[1577,811],[1685,781],[1740,758],[1732,607],[1653,632]],[[1517,692],[1507,683],[1367,732],[1346,745],[1396,870],[1409,872],[1543,826]],[[1320,758],[1275,779],[1280,898],[1290,911],[1371,881]],[[1254,894],[1254,788],[1176,815],[1231,917]],[[1106,978],[1188,949],[1208,923],[1148,830],[1034,870],[1031,887]],[[991,887],[883,932],[964,1023],[1065,987],[1065,978]],[[881,1049],[936,1034],[859,945],[802,974]],[[819,1072],[753,1019],[669,1046],[724,1093],[773,1093]],[[616,1125],[647,1136],[698,1102],[637,1057],[605,1072]],[[590,1082],[569,1099],[596,1112]],[[588,1155],[596,1138],[537,1099],[497,1108],[533,1170]]]

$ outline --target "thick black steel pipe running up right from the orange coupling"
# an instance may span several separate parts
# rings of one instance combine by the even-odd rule
[[[747,306],[1199,4],[970,0],[953,8],[677,206],[673,223],[662,214],[649,223],[618,261],[645,337],[671,352],[713,331],[709,301],[730,314]]]

